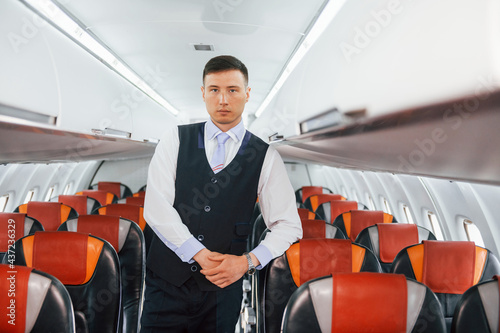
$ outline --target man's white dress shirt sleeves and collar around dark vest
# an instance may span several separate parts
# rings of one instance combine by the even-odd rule
[[[216,136],[220,132],[211,120],[205,123],[204,141],[208,161],[212,159],[217,148]],[[226,132],[230,139],[225,144],[224,165],[228,165],[236,156],[245,132],[242,121]],[[182,261],[192,263],[193,256],[205,246],[189,232],[172,206],[175,199],[178,153],[179,135],[175,127],[163,135],[151,160],[144,218],[166,246]],[[259,259],[260,265],[257,268],[260,269],[273,258],[282,255],[293,242],[302,238],[302,225],[292,185],[281,157],[271,146],[267,149],[262,165],[258,197],[262,216],[267,228],[271,230],[251,251]]]

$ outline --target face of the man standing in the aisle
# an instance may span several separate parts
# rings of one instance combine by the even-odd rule
[[[201,92],[208,114],[217,127],[226,132],[238,125],[250,97],[243,73],[234,69],[208,74]]]

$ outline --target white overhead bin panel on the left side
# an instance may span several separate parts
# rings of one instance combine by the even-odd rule
[[[139,140],[179,122],[22,3],[4,1],[0,12],[8,37],[0,41],[0,104],[57,117],[66,130],[112,128]],[[165,81],[165,73],[148,70],[159,86]]]

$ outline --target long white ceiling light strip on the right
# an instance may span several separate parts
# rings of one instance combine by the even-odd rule
[[[274,83],[271,91],[269,92],[269,94],[267,94],[266,98],[255,112],[256,117],[259,117],[262,112],[264,112],[276,93],[281,89],[286,79],[288,79],[288,76],[290,76],[290,74],[293,72],[302,58],[306,55],[314,42],[316,42],[318,37],[323,33],[323,31],[325,31],[326,27],[328,27],[333,18],[338,14],[345,1],[346,0],[330,0],[323,7],[323,10],[319,14],[318,18],[306,33],[306,35],[302,38],[292,57],[288,60],[286,67]]]

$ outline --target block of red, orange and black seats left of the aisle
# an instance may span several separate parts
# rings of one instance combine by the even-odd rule
[[[60,332],[138,331],[148,227],[138,202],[103,201],[101,206],[98,199],[107,200],[109,193],[88,190],[60,196],[58,202],[30,202],[16,213],[0,213],[0,251],[6,252],[0,265],[0,289],[12,289],[3,276],[12,277],[15,293],[8,301],[16,304],[13,317],[26,325],[26,331],[28,327]],[[143,200],[140,195],[129,198]],[[0,331],[12,328],[0,327]]]

